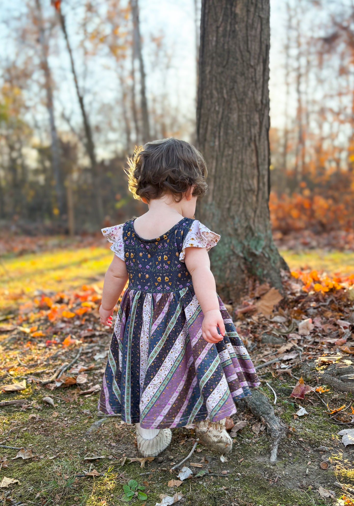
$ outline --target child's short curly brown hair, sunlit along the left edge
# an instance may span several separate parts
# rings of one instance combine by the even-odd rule
[[[201,153],[188,142],[173,137],[136,147],[125,173],[134,198],[143,197],[148,202],[166,194],[180,202],[190,186],[194,186],[193,195],[204,195],[208,188],[208,172]]]

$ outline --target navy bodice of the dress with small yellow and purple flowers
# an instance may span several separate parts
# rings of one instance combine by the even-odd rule
[[[140,237],[134,230],[134,219],[124,224],[124,260],[130,289],[165,293],[192,284],[180,254],[193,221],[184,218],[156,239]]]

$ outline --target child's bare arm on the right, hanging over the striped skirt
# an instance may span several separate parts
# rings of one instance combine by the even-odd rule
[[[185,263],[192,275],[194,291],[204,314],[203,339],[208,343],[217,343],[225,335],[225,325],[220,313],[215,279],[210,270],[210,260],[206,248],[186,248]],[[222,335],[217,332],[217,327]]]

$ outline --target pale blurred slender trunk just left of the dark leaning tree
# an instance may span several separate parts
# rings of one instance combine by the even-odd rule
[[[52,74],[48,64],[48,40],[45,34],[43,25],[42,7],[40,0],[35,0],[36,5],[36,22],[38,28],[38,40],[40,44],[40,66],[45,76],[45,88],[47,95],[47,110],[49,115],[49,124],[51,130],[51,154],[52,166],[55,180],[55,191],[57,195],[57,203],[60,216],[65,213],[64,209],[64,182],[63,172],[60,160],[60,143],[58,137],[57,126],[54,117],[54,103],[53,103],[53,87],[52,87]]]

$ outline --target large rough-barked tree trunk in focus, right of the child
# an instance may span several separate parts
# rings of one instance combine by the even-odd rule
[[[209,189],[198,218],[222,236],[210,258],[226,302],[249,277],[281,288],[287,267],[268,208],[269,49],[270,0],[202,0],[197,139]]]

